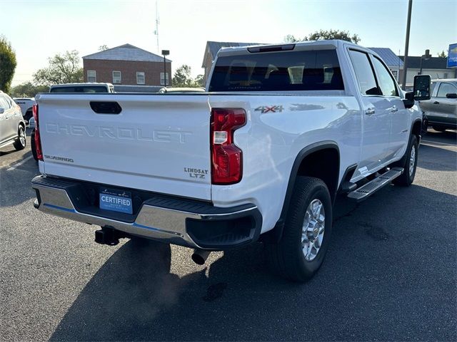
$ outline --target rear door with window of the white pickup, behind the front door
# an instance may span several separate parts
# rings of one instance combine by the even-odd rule
[[[380,168],[388,157],[391,103],[381,94],[368,53],[349,50],[363,110],[361,157],[354,177]]]

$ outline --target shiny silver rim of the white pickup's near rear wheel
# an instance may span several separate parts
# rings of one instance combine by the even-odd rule
[[[323,241],[326,212],[319,199],[313,199],[306,209],[301,231],[301,250],[306,261],[316,258]]]

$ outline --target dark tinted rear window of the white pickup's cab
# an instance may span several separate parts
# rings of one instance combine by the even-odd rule
[[[336,50],[222,56],[209,91],[344,90]]]

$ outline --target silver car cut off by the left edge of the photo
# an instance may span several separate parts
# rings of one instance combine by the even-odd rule
[[[0,90],[0,147],[9,144],[16,150],[26,147],[26,123],[19,105]]]

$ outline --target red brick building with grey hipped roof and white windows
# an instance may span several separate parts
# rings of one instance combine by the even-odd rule
[[[125,44],[83,57],[84,82],[107,82],[114,86],[170,86],[171,61]]]

